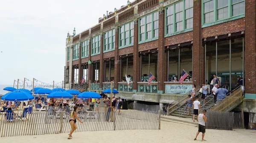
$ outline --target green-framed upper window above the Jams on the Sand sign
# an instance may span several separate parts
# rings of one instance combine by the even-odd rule
[[[170,36],[193,28],[193,0],[180,0],[166,7],[165,34]]]

